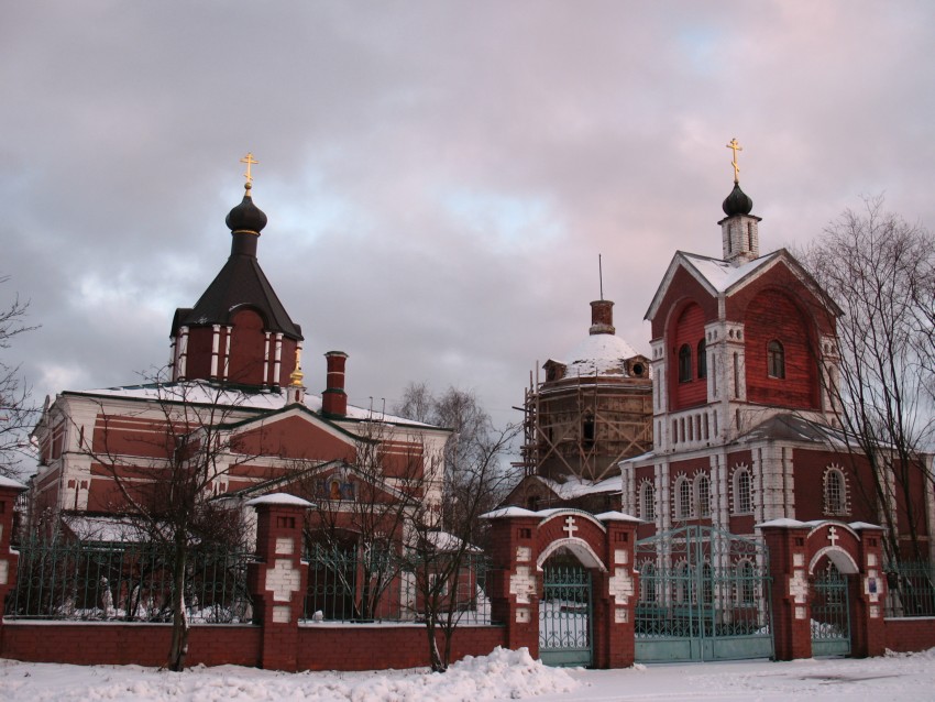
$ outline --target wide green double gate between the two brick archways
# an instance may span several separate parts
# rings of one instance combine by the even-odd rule
[[[766,546],[707,526],[636,545],[636,660],[735,660],[773,654]]]

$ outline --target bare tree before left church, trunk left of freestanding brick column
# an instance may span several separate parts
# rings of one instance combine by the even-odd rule
[[[244,394],[219,384],[151,379],[152,397],[136,407],[98,402],[97,426],[80,432],[81,451],[109,475],[109,512],[127,516],[148,542],[168,552],[173,633],[165,667],[180,671],[188,652],[186,603],[190,558],[204,544],[235,544],[239,515],[211,502],[212,486],[254,460],[262,438],[229,426],[244,416]],[[132,428],[128,428],[132,427]]]

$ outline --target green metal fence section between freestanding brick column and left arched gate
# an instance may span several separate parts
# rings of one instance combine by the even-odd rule
[[[306,622],[421,622],[426,616],[425,592],[431,567],[414,568],[411,558],[392,551],[332,548],[312,545],[306,550],[308,586],[302,618]],[[442,583],[441,612],[459,624],[490,624],[488,559],[464,556],[461,568]],[[443,577],[443,575],[442,575]]]

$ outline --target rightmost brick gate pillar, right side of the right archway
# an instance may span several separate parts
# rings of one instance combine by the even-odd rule
[[[851,525],[860,535],[860,573],[850,582],[850,651],[855,658],[882,656],[887,648],[883,603],[887,579],[883,577],[882,529],[871,525]]]

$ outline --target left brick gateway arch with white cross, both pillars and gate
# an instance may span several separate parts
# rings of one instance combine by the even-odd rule
[[[508,646],[526,646],[549,665],[632,665],[638,519],[519,507],[485,516],[502,578],[492,615],[507,625]]]

